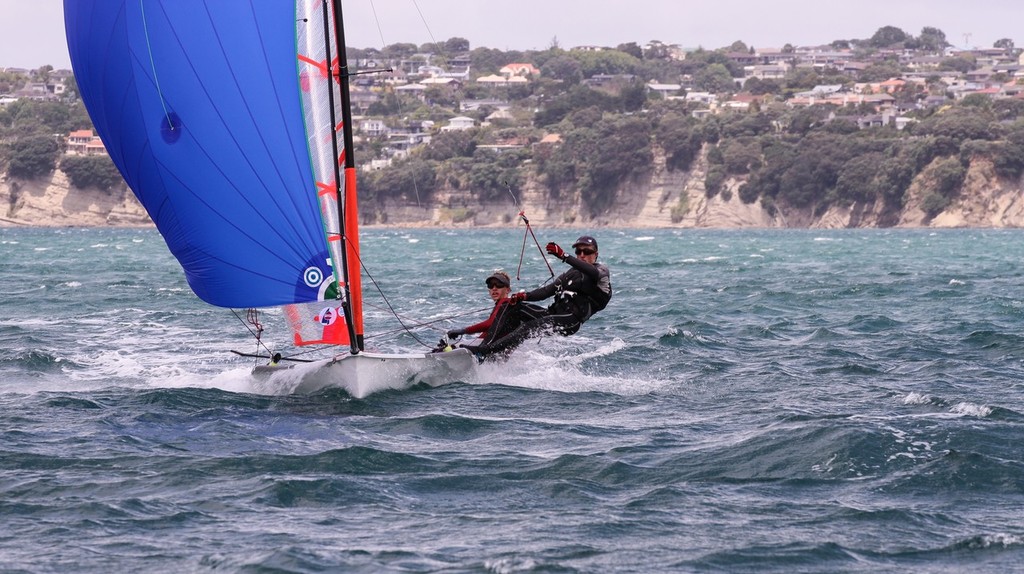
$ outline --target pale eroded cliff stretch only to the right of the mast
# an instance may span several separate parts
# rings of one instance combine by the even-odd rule
[[[522,187],[522,206],[531,222],[546,227],[1024,227],[1024,182],[999,179],[991,162],[985,159],[972,162],[959,194],[946,211],[932,219],[921,209],[930,186],[921,176],[910,185],[905,206],[897,213],[886,211],[882,202],[877,202],[833,207],[815,214],[811,209],[769,212],[760,202],[743,204],[738,192],[743,180],[736,178],[729,179],[723,191],[709,198],[703,185],[707,174],[706,154],[687,172],[670,172],[665,157],[655,152],[651,172],[627,182],[618,190],[615,205],[605,213],[590,215],[579,193],[551,197],[536,178]],[[517,213],[511,200],[480,203],[464,190],[445,187],[435,196],[437,205],[431,208],[388,202],[364,221],[471,227],[508,224]]]

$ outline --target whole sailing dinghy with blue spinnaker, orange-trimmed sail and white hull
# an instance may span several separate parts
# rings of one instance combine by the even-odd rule
[[[65,0],[82,100],[195,294],[337,345],[254,376],[357,398],[465,381],[465,349],[365,348],[342,21],[340,0]]]

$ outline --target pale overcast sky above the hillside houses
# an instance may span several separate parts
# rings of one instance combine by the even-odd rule
[[[0,0],[0,68],[70,68],[62,5]],[[344,10],[348,44],[359,48],[456,36],[501,50],[544,49],[553,39],[563,48],[650,40],[778,48],[869,38],[884,26],[915,36],[938,28],[957,47],[1000,38],[1024,46],[1024,0],[346,0]]]

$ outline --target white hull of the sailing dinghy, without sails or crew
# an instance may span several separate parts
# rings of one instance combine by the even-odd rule
[[[296,384],[295,393],[315,393],[323,389],[344,389],[361,399],[387,389],[408,389],[427,384],[437,387],[469,381],[477,360],[466,349],[446,353],[386,354],[359,353],[291,365],[257,366],[253,376],[266,381]]]

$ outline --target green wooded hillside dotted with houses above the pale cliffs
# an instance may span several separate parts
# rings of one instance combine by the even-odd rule
[[[933,28],[914,37],[885,27],[869,39],[837,40],[827,48],[847,63],[802,65],[801,58],[818,56],[786,45],[779,56],[792,56],[786,72],[771,79],[751,76],[743,61],[768,56],[741,42],[685,53],[659,42],[519,52],[471,50],[453,38],[442,45],[352,50],[356,69],[390,62],[422,70],[438,61],[451,69],[458,60],[467,70],[463,80],[418,95],[400,92],[401,84],[386,75],[358,77],[354,89],[369,102],[360,119],[379,120],[392,132],[356,133],[356,158],[378,167],[360,178],[362,218],[408,220],[392,210],[415,205],[422,214],[446,207],[450,222],[494,223],[472,214],[514,200],[571,210],[563,222],[600,223],[640,202],[636,195],[649,193],[654,179],[666,181],[657,174],[675,173],[685,174],[676,184],[689,191],[663,193],[663,204],[675,202],[667,206],[670,224],[684,222],[695,209],[697,178],[703,200],[738,200],[790,224],[859,209],[874,214],[870,224],[888,226],[906,224],[911,203],[924,214],[923,224],[949,209],[971,191],[965,183],[979,162],[989,168],[989,181],[1019,185],[1024,99],[1007,89],[1020,82],[1016,76],[989,71],[984,85],[1000,90],[954,93],[956,82],[977,72],[981,56],[949,50],[945,35]],[[989,52],[1004,61],[1019,55],[1010,40],[995,48]],[[930,72],[915,71],[914,58],[926,56],[934,60]],[[852,65],[853,58],[860,63]],[[528,62],[539,74],[508,86],[474,81],[515,62]],[[899,82],[865,92],[893,79]],[[17,82],[0,76],[0,89]],[[651,88],[656,84],[678,84],[679,90],[667,95]],[[808,97],[822,86],[833,97]],[[109,158],[63,157],[53,137],[91,127],[76,94],[72,86],[58,100],[0,107],[0,169],[8,179],[44,178],[59,167],[74,188],[117,191],[121,182]],[[837,103],[835,94],[849,94],[848,101]],[[440,129],[459,115],[473,126]],[[398,148],[394,133],[410,126],[427,126],[427,137]],[[787,217],[796,213],[811,219]],[[429,218],[436,222],[436,212]]]

